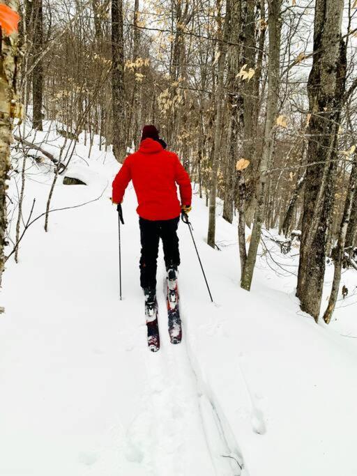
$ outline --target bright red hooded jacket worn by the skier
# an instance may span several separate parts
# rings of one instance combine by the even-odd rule
[[[113,201],[120,204],[132,180],[137,194],[137,213],[146,220],[171,220],[179,217],[181,205],[176,183],[180,187],[181,204],[191,205],[190,177],[177,155],[165,151],[153,139],[144,139],[139,151],[128,155],[113,182]]]

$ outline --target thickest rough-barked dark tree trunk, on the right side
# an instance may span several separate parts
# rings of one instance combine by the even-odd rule
[[[314,56],[307,84],[310,112],[301,255],[296,295],[317,321],[325,274],[326,228],[336,169],[337,133],[346,77],[343,0],[317,0]],[[321,164],[309,165],[314,162]]]

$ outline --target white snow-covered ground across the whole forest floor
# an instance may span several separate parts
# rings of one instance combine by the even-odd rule
[[[52,131],[37,140],[57,154],[64,139]],[[98,146],[88,155],[81,137],[66,175],[88,185],[61,178],[52,208],[91,203],[52,213],[48,233],[38,220],[20,263],[6,266],[0,475],[356,476],[357,272],[343,275],[349,297],[333,323],[316,325],[294,297],[298,249],[278,254],[266,232],[269,252],[247,293],[238,285],[236,225],[218,217],[220,251],[208,247],[208,213],[196,196],[190,218],[215,303],[181,223],[183,342],[169,344],[160,256],[162,346],[150,353],[135,193],[130,185],[123,204],[120,301],[109,201],[119,166]],[[29,160],[24,220],[33,198],[33,217],[45,210],[49,170]],[[14,179],[9,196],[16,204]],[[15,217],[12,236],[14,227]],[[332,273],[329,266],[326,296]]]

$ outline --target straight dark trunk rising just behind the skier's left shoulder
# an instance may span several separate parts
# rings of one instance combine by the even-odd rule
[[[124,66],[123,1],[112,0],[113,153],[121,163],[126,156]]]

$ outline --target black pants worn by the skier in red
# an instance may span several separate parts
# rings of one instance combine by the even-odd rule
[[[172,220],[144,220],[139,218],[142,256],[140,258],[140,284],[142,288],[156,286],[156,269],[160,238],[164,249],[165,265],[179,266],[179,237],[177,227],[180,217]]]

